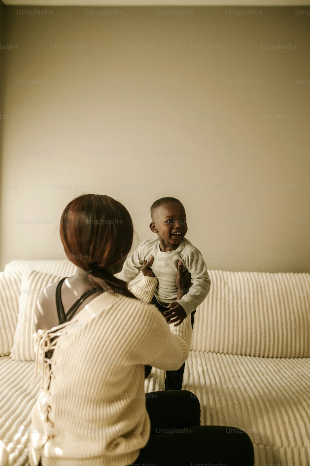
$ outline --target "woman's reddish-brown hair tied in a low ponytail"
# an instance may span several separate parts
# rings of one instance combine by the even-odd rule
[[[126,257],[132,245],[131,216],[120,202],[101,194],[73,199],[62,212],[60,237],[68,259],[85,272],[92,269],[92,288],[135,298],[106,268]]]

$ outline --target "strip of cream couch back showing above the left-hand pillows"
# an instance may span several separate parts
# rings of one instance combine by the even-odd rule
[[[20,267],[27,267],[61,277],[70,277],[76,273],[76,266],[68,259],[11,260],[4,267],[4,271]]]

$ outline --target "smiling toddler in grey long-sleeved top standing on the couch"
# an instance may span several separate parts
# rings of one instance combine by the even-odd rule
[[[117,278],[129,283],[141,270],[144,260],[153,256],[152,271],[158,279],[152,304],[163,313],[166,320],[180,325],[191,314],[192,328],[196,308],[206,298],[210,290],[207,266],[200,251],[186,238],[187,225],[184,206],[179,199],[165,197],[156,200],[151,207],[150,228],[157,234],[155,240],[145,240],[128,257]],[[182,261],[192,275],[192,286],[180,300],[176,300],[175,284],[178,262]],[[184,366],[178,370],[167,370],[165,390],[180,390],[183,383]],[[152,367],[145,366],[145,377]]]

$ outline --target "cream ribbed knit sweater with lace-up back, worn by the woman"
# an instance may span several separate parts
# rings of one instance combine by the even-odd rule
[[[192,334],[190,317],[174,327],[147,304],[156,286],[157,278],[144,276],[131,289],[144,302],[105,292],[70,322],[34,335],[42,382],[30,466],[40,456],[43,466],[125,466],[137,459],[150,433],[144,364],[179,369]]]

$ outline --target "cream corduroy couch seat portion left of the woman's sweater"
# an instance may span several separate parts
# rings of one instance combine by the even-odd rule
[[[34,377],[35,363],[0,357],[0,439],[7,448],[10,466],[28,464],[31,410],[40,390],[41,374]]]

